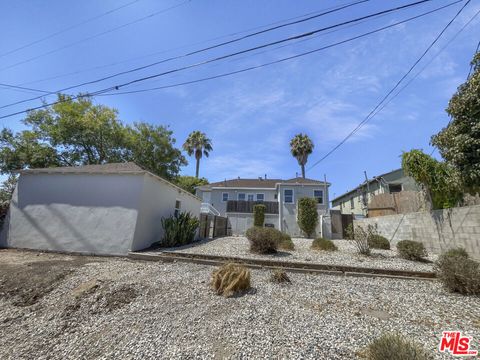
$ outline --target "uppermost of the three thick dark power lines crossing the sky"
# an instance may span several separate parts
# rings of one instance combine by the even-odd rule
[[[321,12],[321,13],[319,13],[319,14],[315,14],[315,15],[312,15],[312,16],[308,16],[307,18],[304,18],[304,19],[300,19],[300,20],[296,20],[296,21],[291,21],[291,22],[288,22],[288,23],[285,23],[285,24],[281,24],[281,25],[276,25],[276,26],[274,26],[274,27],[269,27],[269,28],[264,29],[264,30],[256,31],[256,32],[254,32],[254,33],[250,33],[250,34],[247,34],[247,35],[244,35],[244,36],[241,36],[241,37],[238,37],[238,38],[229,40],[229,41],[224,41],[224,42],[221,42],[221,43],[219,43],[219,44],[211,45],[211,46],[208,46],[208,47],[203,48],[203,49],[191,51],[191,52],[188,52],[188,53],[186,53],[186,54],[182,54],[182,55],[178,55],[178,56],[173,56],[173,57],[170,57],[170,58],[167,58],[167,59],[162,59],[162,60],[156,61],[156,62],[154,62],[154,63],[150,63],[150,64],[143,65],[143,66],[139,66],[139,67],[136,67],[136,68],[133,68],[133,69],[129,69],[129,70],[125,70],[125,71],[118,72],[118,73],[115,73],[115,74],[112,74],[112,75],[104,76],[104,77],[99,78],[99,79],[95,79],[95,80],[91,80],[91,81],[86,81],[86,82],[83,82],[83,83],[80,83],[80,84],[77,84],[77,85],[68,86],[68,87],[66,87],[66,88],[63,88],[63,89],[60,89],[60,90],[56,91],[55,93],[63,92],[63,91],[71,90],[71,89],[75,89],[75,88],[78,88],[78,87],[81,87],[81,86],[85,86],[85,85],[95,84],[95,83],[98,83],[98,82],[101,82],[101,81],[105,81],[105,80],[112,79],[112,78],[114,78],[114,77],[118,77],[118,76],[121,76],[121,75],[129,74],[129,73],[132,73],[132,72],[137,72],[137,71],[140,71],[140,70],[144,70],[144,69],[150,68],[150,67],[152,67],[152,66],[156,66],[156,65],[159,65],[159,64],[163,64],[163,63],[166,63],[166,62],[169,62],[169,61],[178,60],[178,59],[181,59],[181,58],[186,58],[186,57],[188,57],[188,56],[192,56],[192,55],[199,54],[199,53],[202,53],[202,52],[205,52],[205,51],[208,51],[208,50],[216,49],[216,48],[219,48],[219,47],[222,47],[222,46],[225,46],[225,45],[233,44],[233,43],[239,42],[239,41],[241,41],[241,40],[245,40],[245,39],[247,39],[247,38],[251,38],[251,37],[254,37],[254,36],[258,36],[258,35],[261,35],[261,34],[264,34],[264,33],[270,32],[270,31],[273,31],[273,30],[277,30],[277,29],[286,27],[286,26],[296,25],[296,24],[299,24],[299,23],[302,23],[302,22],[305,22],[305,21],[309,21],[309,20],[312,20],[312,19],[315,19],[315,18],[318,18],[318,17],[321,17],[321,16],[325,16],[325,15],[331,14],[331,13],[333,13],[333,12],[337,12],[337,11],[340,11],[340,10],[346,9],[346,8],[348,8],[348,7],[351,7],[351,6],[354,6],[354,5],[358,5],[358,4],[367,2],[367,1],[370,1],[370,0],[359,0],[359,1],[355,1],[355,2],[353,2],[353,3],[345,4],[345,5],[342,5],[342,6],[339,6],[339,7],[335,7],[335,8],[333,8],[333,9],[330,8],[330,9],[327,9],[326,11],[324,11],[324,12]],[[424,0],[424,1],[431,1],[431,0]],[[251,51],[251,50],[250,50],[250,51]],[[196,66],[198,66],[198,65],[196,65]],[[42,96],[37,96],[37,97],[30,98],[30,99],[25,99],[25,100],[20,100],[20,101],[17,101],[17,102],[8,104],[8,105],[0,106],[0,109],[4,109],[4,108],[6,108],[6,107],[10,107],[10,106],[13,106],[13,105],[18,105],[18,104],[21,104],[21,103],[24,103],[24,102],[28,102],[28,101],[32,101],[32,100],[37,100],[37,99],[40,99],[40,98],[42,98]]]

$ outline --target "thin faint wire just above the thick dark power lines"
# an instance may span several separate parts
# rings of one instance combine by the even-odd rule
[[[146,55],[142,55],[142,56],[136,56],[136,57],[128,58],[128,59],[125,59],[125,60],[121,60],[121,61],[117,61],[117,62],[113,62],[113,63],[109,63],[109,64],[93,66],[93,67],[78,70],[78,71],[72,71],[72,72],[69,72],[69,73],[64,73],[64,74],[59,74],[59,75],[46,77],[46,78],[43,78],[43,79],[33,80],[33,81],[25,82],[25,83],[22,83],[22,84],[19,84],[19,85],[29,85],[29,84],[34,84],[34,83],[38,83],[38,82],[54,80],[54,79],[58,79],[58,78],[62,78],[62,77],[81,74],[81,73],[84,73],[84,72],[88,72],[90,70],[103,69],[103,68],[107,68],[107,67],[112,67],[112,66],[124,64],[124,63],[130,62],[130,61],[141,60],[141,59],[145,59],[145,58],[148,58],[148,57],[151,57],[151,56],[154,56],[154,55],[164,54],[164,53],[168,53],[168,52],[171,52],[171,51],[174,51],[174,50],[181,50],[181,49],[189,48],[189,47],[192,47],[192,46],[205,44],[205,43],[208,43],[208,42],[211,42],[211,41],[220,40],[220,39],[224,39],[224,38],[228,38],[228,37],[232,37],[232,36],[237,36],[237,35],[249,32],[249,31],[255,31],[255,30],[258,30],[258,29],[263,29],[263,28],[266,28],[266,27],[269,27],[269,26],[272,26],[272,25],[281,24],[282,22],[285,22],[285,21],[290,21],[290,20],[294,20],[294,19],[303,18],[303,17],[310,16],[310,15],[313,15],[313,14],[318,14],[319,12],[322,12],[322,11],[335,9],[335,8],[341,7],[343,5],[349,5],[349,4],[353,4],[353,3],[354,2],[343,3],[343,4],[340,4],[340,5],[337,5],[337,6],[331,6],[331,7],[325,8],[325,9],[309,12],[307,14],[303,14],[303,15],[299,15],[299,16],[295,16],[295,17],[291,17],[291,18],[287,18],[287,19],[278,20],[278,21],[275,21],[275,22],[272,22],[272,23],[269,23],[269,24],[256,26],[256,27],[253,27],[253,28],[245,29],[245,30],[242,30],[242,31],[237,31],[237,32],[234,32],[234,33],[226,34],[226,35],[216,36],[214,38],[201,40],[201,41],[198,41],[198,42],[195,42],[195,43],[190,43],[190,44],[186,44],[186,45],[182,45],[182,46],[177,46],[177,47],[166,49],[166,50],[155,51],[155,52],[150,53],[150,54],[146,54]]]

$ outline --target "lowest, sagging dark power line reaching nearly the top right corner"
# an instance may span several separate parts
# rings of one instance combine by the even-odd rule
[[[197,79],[197,80],[185,81],[185,82],[171,84],[171,85],[164,85],[164,86],[158,86],[158,87],[153,87],[153,88],[123,91],[123,92],[117,92],[116,91],[116,92],[113,92],[113,93],[108,93],[108,91],[117,90],[117,89],[112,89],[112,90],[102,91],[102,93],[97,94],[97,96],[124,95],[124,94],[134,94],[134,93],[141,93],[141,92],[147,92],[147,91],[168,89],[168,88],[172,88],[172,87],[195,84],[195,83],[199,83],[199,82],[203,82],[203,81],[208,81],[208,80],[213,80],[213,79],[218,79],[218,78],[222,78],[222,77],[236,75],[236,74],[239,74],[239,73],[259,69],[259,68],[270,66],[270,65],[273,65],[273,64],[278,64],[278,63],[281,63],[281,62],[284,62],[284,61],[292,60],[292,59],[299,58],[299,57],[302,57],[302,56],[305,56],[305,55],[310,55],[310,54],[315,53],[315,52],[326,50],[326,49],[329,49],[329,48],[332,48],[332,47],[335,47],[335,46],[338,46],[338,45],[342,45],[344,43],[347,43],[347,42],[350,42],[350,41],[353,41],[353,40],[357,40],[359,38],[362,38],[362,37],[365,37],[365,36],[368,36],[368,35],[372,35],[372,34],[375,34],[377,32],[392,28],[394,26],[398,26],[400,24],[406,23],[408,21],[412,21],[412,20],[418,19],[420,17],[429,15],[431,13],[443,10],[443,9],[449,7],[449,6],[455,5],[455,4],[457,4],[459,2],[462,2],[462,1],[463,0],[457,0],[457,1],[452,2],[450,4],[447,4],[447,5],[444,5],[442,7],[427,11],[425,13],[407,18],[405,20],[402,20],[402,21],[399,21],[399,22],[396,22],[396,23],[392,23],[390,25],[386,25],[386,26],[383,26],[381,28],[378,28],[378,29],[375,29],[375,30],[372,30],[372,31],[368,31],[366,33],[363,33],[363,34],[360,34],[360,35],[357,35],[357,36],[354,36],[354,37],[351,37],[351,38],[348,38],[348,39],[345,39],[345,40],[342,40],[342,41],[338,41],[338,42],[335,42],[333,44],[329,44],[329,45],[326,45],[326,46],[323,46],[323,47],[320,47],[320,48],[317,48],[317,49],[314,49],[314,50],[311,50],[311,51],[303,52],[303,53],[300,53],[300,54],[297,54],[297,55],[292,55],[292,56],[282,58],[282,59],[278,59],[278,60],[275,60],[275,61],[271,61],[271,62],[268,62],[268,63],[263,63],[263,64],[260,64],[260,65],[251,66],[251,67],[236,70],[236,71],[230,71],[230,72],[219,74],[219,75],[209,76],[209,77],[205,77],[205,78],[201,78],[201,79]],[[117,86],[115,88],[120,88],[120,87],[121,86]]]

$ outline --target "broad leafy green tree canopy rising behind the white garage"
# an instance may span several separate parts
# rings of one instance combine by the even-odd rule
[[[25,168],[135,161],[147,170],[174,178],[187,162],[174,147],[172,132],[145,123],[124,125],[115,109],[94,105],[90,98],[60,102],[31,111],[28,130],[0,132],[0,172]]]

